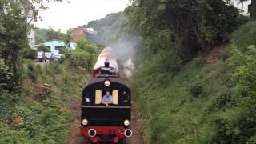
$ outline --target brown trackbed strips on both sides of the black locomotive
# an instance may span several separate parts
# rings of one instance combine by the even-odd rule
[[[70,138],[68,139],[68,144],[91,144],[87,139],[80,136],[79,126],[80,126],[80,102],[72,97],[67,98],[67,102],[70,103],[72,109],[72,122],[70,123]],[[142,140],[142,121],[138,110],[132,110],[132,125],[131,129],[134,134],[133,137],[122,144],[144,144]]]

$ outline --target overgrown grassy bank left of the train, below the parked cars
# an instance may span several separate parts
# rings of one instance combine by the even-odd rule
[[[26,82],[23,94],[0,97],[0,143],[63,143],[70,124],[69,97],[80,98],[86,82],[86,70],[50,64],[46,68],[30,66],[26,78],[36,84],[52,86],[44,102],[35,101],[34,86]]]

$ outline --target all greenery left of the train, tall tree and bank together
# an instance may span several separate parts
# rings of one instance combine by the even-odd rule
[[[66,98],[78,98],[86,81],[85,69],[70,71],[66,63],[41,67],[24,59],[35,55],[27,45],[32,26],[26,14],[38,3],[44,0],[0,0],[0,143],[66,143],[70,124]],[[37,102],[34,89],[43,83],[52,87]]]

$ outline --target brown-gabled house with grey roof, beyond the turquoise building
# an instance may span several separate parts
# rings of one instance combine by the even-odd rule
[[[93,28],[84,28],[82,26],[79,26],[78,28],[72,30],[70,35],[74,42],[78,42],[82,39],[94,38],[97,35],[97,32],[94,31]]]

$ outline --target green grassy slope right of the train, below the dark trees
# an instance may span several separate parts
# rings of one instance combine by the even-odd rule
[[[231,42],[245,50],[256,44],[255,34],[256,22],[248,22],[232,34]],[[222,98],[233,91],[233,70],[228,62],[205,66],[205,58],[198,57],[173,78],[168,74],[162,78],[156,59],[142,62],[134,76],[135,102],[142,108],[146,121],[146,143],[212,142],[218,130],[207,122],[214,114],[222,114]],[[200,86],[202,93],[193,96],[190,89],[196,86]]]

